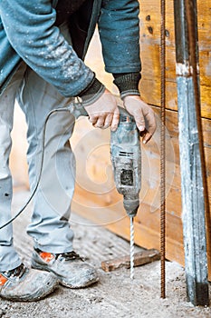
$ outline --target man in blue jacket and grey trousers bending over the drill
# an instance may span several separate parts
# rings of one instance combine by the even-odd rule
[[[155,132],[155,115],[139,95],[138,0],[1,0],[1,224],[11,218],[8,163],[15,99],[27,123],[31,191],[41,169],[44,121],[53,109],[67,108],[77,97],[94,127],[117,129],[120,114],[115,97],[83,62],[97,24],[105,69],[113,75],[143,143]],[[32,268],[14,249],[12,224],[0,230],[0,296],[5,299],[35,301],[52,293],[58,283],[80,288],[99,279],[72,247],[69,217],[75,161],[69,140],[74,122],[67,112],[53,114],[47,122],[42,178],[27,228],[34,242]]]

